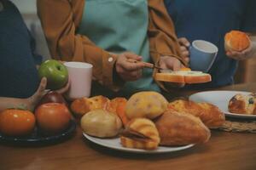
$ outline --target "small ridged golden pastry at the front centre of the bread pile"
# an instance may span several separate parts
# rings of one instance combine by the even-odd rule
[[[160,143],[160,136],[154,122],[147,118],[135,118],[127,124],[120,140],[127,148],[154,150]]]

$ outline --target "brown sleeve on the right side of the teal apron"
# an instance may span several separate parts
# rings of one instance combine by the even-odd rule
[[[188,65],[183,57],[181,57],[175,29],[172,19],[166,11],[164,0],[148,0],[148,14],[150,55],[154,63],[159,61],[160,56],[167,55],[180,59],[183,65]],[[157,83],[166,90],[163,83]]]

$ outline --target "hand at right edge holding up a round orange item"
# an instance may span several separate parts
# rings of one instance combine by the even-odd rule
[[[251,42],[250,46],[241,52],[227,51],[226,54],[231,59],[250,59],[256,55],[256,42]]]

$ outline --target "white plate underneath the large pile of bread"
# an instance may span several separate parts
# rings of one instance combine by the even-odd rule
[[[126,152],[135,152],[135,153],[146,153],[146,154],[158,154],[158,153],[169,153],[174,152],[177,150],[185,150],[188,149],[195,144],[188,144],[184,146],[178,146],[178,147],[164,147],[159,146],[156,150],[140,150],[140,149],[131,149],[131,148],[125,148],[120,144],[120,139],[99,139],[89,136],[86,133],[83,133],[84,137],[88,140],[90,140],[93,143],[100,144],[102,146],[105,146],[107,148],[111,148],[113,150],[122,150]]]

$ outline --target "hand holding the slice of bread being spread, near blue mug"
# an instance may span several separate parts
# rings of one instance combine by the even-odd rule
[[[180,60],[171,57],[171,56],[162,56],[159,61],[160,68],[169,69],[172,71],[179,71],[181,68],[185,67]],[[184,83],[176,83],[176,82],[166,82],[166,87],[170,88],[182,88]]]

